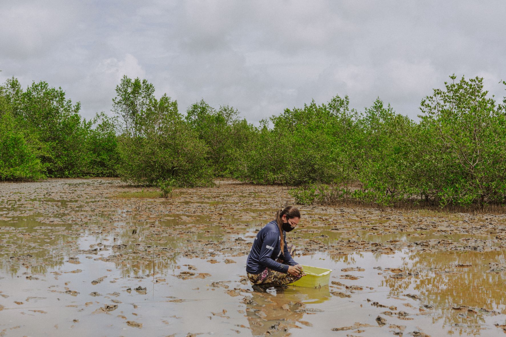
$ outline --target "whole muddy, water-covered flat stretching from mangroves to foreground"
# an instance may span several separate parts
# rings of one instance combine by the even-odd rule
[[[288,238],[295,259],[332,269],[331,283],[258,293],[246,255],[290,203],[281,187],[111,198],[130,190],[98,179],[0,184],[0,335],[503,333],[502,216],[302,208]]]

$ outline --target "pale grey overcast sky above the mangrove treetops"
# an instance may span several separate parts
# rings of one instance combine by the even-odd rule
[[[45,80],[110,113],[123,74],[180,111],[204,99],[251,122],[305,102],[376,97],[415,118],[447,76],[506,94],[506,2],[0,1],[0,81]]]

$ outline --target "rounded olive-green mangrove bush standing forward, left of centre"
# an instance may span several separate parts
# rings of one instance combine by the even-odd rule
[[[123,77],[126,83],[116,87],[115,102],[119,98],[133,101],[129,98],[129,83],[136,81],[140,82]],[[147,99],[149,103],[135,111],[135,118],[123,124],[119,136],[121,178],[146,185],[167,179],[181,187],[212,184],[207,147],[184,121],[177,102],[166,94],[160,100],[153,95]]]

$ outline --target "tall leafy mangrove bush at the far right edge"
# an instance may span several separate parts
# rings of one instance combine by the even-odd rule
[[[420,187],[441,205],[506,202],[506,114],[482,78],[461,78],[421,102]],[[420,170],[420,171],[421,171]]]

